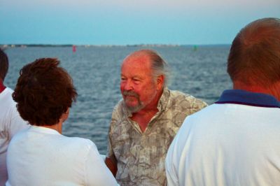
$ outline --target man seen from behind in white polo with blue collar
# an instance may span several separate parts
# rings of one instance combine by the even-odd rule
[[[233,90],[188,117],[167,153],[168,185],[280,184],[280,20],[251,22],[228,57]]]

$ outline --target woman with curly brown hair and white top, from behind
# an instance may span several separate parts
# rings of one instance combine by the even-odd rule
[[[21,69],[13,99],[31,127],[10,142],[7,185],[118,185],[92,141],[62,135],[76,96],[57,59]]]

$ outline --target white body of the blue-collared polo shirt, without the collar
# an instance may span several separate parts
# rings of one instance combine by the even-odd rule
[[[168,185],[280,185],[280,108],[213,104],[170,145]]]

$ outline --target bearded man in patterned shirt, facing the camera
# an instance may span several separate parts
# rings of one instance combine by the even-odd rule
[[[113,110],[106,164],[120,185],[166,185],[167,149],[186,116],[207,106],[167,89],[167,64],[139,50],[121,66],[123,100]]]

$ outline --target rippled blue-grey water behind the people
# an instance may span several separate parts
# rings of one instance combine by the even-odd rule
[[[78,99],[64,123],[63,134],[90,138],[99,152],[106,154],[111,111],[121,99],[120,64],[140,47],[69,47],[8,48],[10,69],[5,83],[14,88],[19,70],[41,57],[57,57],[69,71],[78,90]],[[231,87],[226,73],[230,46],[155,47],[172,70],[169,88],[192,94],[211,104]]]

